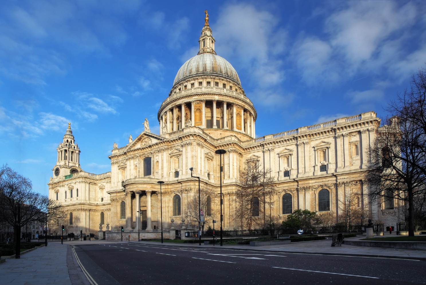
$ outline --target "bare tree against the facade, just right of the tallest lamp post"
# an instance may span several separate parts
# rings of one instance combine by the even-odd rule
[[[266,205],[272,205],[271,196],[276,189],[271,170],[263,170],[258,160],[248,160],[240,173],[242,187],[236,191],[234,216],[240,228],[267,225]],[[269,217],[271,219],[271,217]]]

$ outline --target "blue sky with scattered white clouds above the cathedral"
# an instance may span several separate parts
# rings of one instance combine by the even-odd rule
[[[111,171],[180,66],[204,10],[257,110],[256,137],[375,111],[426,63],[426,1],[3,0],[0,165],[47,195],[68,122],[84,171]]]

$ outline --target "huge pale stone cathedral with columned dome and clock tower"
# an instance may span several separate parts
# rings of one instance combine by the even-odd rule
[[[339,205],[352,193],[357,207],[368,207],[374,221],[395,226],[403,218],[398,202],[385,207],[365,195],[368,148],[380,128],[376,113],[256,138],[256,109],[236,70],[216,54],[207,16],[198,54],[178,70],[158,110],[160,135],[151,133],[145,120],[145,130],[134,140],[130,137],[123,147],[114,143],[111,172],[91,174],[81,168],[80,148],[68,125],[48,183],[49,197],[69,212],[67,231],[117,239],[122,226],[131,239],[137,239],[138,228],[141,237],[159,237],[160,204],[165,231],[174,236],[176,230],[198,229],[187,222],[188,203],[198,195],[198,180],[189,168],[200,177],[201,188],[219,193],[218,149],[226,151],[222,156],[224,229],[238,227],[233,215],[235,191],[242,186],[239,178],[247,160],[271,169],[277,194],[265,211],[268,216],[284,220],[296,209],[308,209],[331,212],[338,219]],[[165,182],[161,201],[160,180]],[[220,207],[217,200],[211,207]]]

